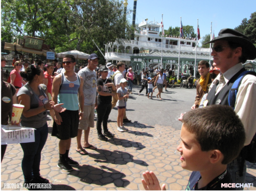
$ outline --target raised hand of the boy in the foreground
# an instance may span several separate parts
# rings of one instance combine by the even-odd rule
[[[141,181],[146,191],[166,191],[165,184],[161,189],[157,176],[154,172],[146,171],[143,173],[143,177],[145,180],[142,179]]]

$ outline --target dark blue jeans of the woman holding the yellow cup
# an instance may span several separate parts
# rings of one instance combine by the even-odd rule
[[[25,182],[32,180],[33,176],[40,176],[41,152],[48,137],[48,125],[35,130],[35,142],[23,143],[21,148],[24,157],[21,163]]]

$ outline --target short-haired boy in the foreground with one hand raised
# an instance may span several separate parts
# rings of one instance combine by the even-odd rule
[[[214,115],[214,116],[212,116]],[[243,124],[229,106],[214,105],[185,113],[177,150],[181,167],[193,171],[186,190],[236,190],[223,188],[233,183],[227,164],[241,152],[245,142]],[[165,191],[160,188],[153,172],[143,173],[142,183],[147,191]]]

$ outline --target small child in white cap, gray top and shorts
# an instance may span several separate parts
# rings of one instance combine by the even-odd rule
[[[128,131],[128,129],[126,129],[123,126],[123,116],[125,114],[126,111],[126,102],[127,99],[129,98],[129,93],[127,92],[127,89],[125,88],[127,86],[127,80],[125,80],[125,78],[123,78],[120,81],[120,88],[118,88],[117,93],[118,93],[118,131],[120,132],[124,132],[124,131]]]

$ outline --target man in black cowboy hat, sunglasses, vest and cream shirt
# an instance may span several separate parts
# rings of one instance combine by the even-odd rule
[[[247,36],[229,28],[222,29],[217,38],[206,44],[209,43],[214,43],[213,65],[220,69],[220,73],[209,88],[208,105],[229,105],[229,91],[238,76],[245,71],[242,64],[248,59],[256,58],[256,47]],[[256,133],[256,119],[253,113],[256,109],[255,95],[256,75],[248,74],[243,77],[238,88],[234,109],[246,130],[245,146],[251,143]],[[228,165],[227,170],[231,173],[234,183],[245,183],[245,156],[241,154]]]

